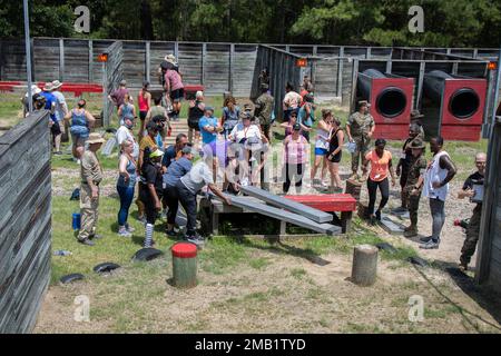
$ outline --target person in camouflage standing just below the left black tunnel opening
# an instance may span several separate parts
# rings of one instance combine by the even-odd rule
[[[371,105],[363,100],[358,102],[360,109],[350,116],[346,123],[346,134],[351,142],[356,144],[355,152],[352,154],[352,171],[353,175],[350,179],[356,179],[358,177],[358,164],[360,157],[362,157],[362,165],[365,155],[370,151],[371,139],[375,130],[375,121],[369,108]],[[365,178],[365,177],[364,177]]]

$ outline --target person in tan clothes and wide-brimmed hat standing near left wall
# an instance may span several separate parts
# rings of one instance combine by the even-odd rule
[[[96,234],[99,208],[99,184],[102,181],[102,168],[97,151],[106,140],[99,134],[90,134],[89,149],[81,156],[80,168],[80,215],[81,227],[78,241],[86,246],[94,246],[92,239],[100,238]]]

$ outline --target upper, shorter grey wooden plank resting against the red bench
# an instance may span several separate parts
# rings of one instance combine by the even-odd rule
[[[307,205],[303,205],[301,202],[297,202],[297,201],[294,201],[291,199],[275,196],[273,194],[269,194],[266,190],[262,190],[256,187],[246,186],[246,187],[242,187],[240,189],[242,189],[242,192],[244,192],[250,197],[261,199],[261,200],[263,200],[267,204],[271,204],[275,207],[299,214],[301,216],[304,216],[304,217],[306,217],[315,222],[318,222],[318,224],[330,222],[333,219],[331,214],[326,214],[322,210],[311,208]]]

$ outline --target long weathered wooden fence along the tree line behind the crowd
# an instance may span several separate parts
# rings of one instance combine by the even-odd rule
[[[33,78],[37,81],[102,82],[102,65],[97,56],[111,46],[112,40],[79,40],[36,38],[32,40]],[[208,93],[232,91],[237,97],[249,97],[253,70],[256,65],[256,43],[202,43],[122,41],[124,73],[131,87],[143,80],[158,83],[157,68],[167,53],[174,53],[185,81],[204,85]],[[353,59],[390,59],[390,47],[269,44],[302,57],[318,57],[311,75],[317,97],[350,95]],[[480,59],[498,58],[498,49],[418,48],[449,55]],[[24,80],[24,43],[20,40],[0,40],[0,80]]]

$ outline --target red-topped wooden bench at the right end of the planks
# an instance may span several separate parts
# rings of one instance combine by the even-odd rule
[[[356,199],[350,194],[324,194],[306,196],[286,196],[285,198],[304,204],[325,212],[341,212],[343,234],[351,229],[353,211],[356,211]]]

